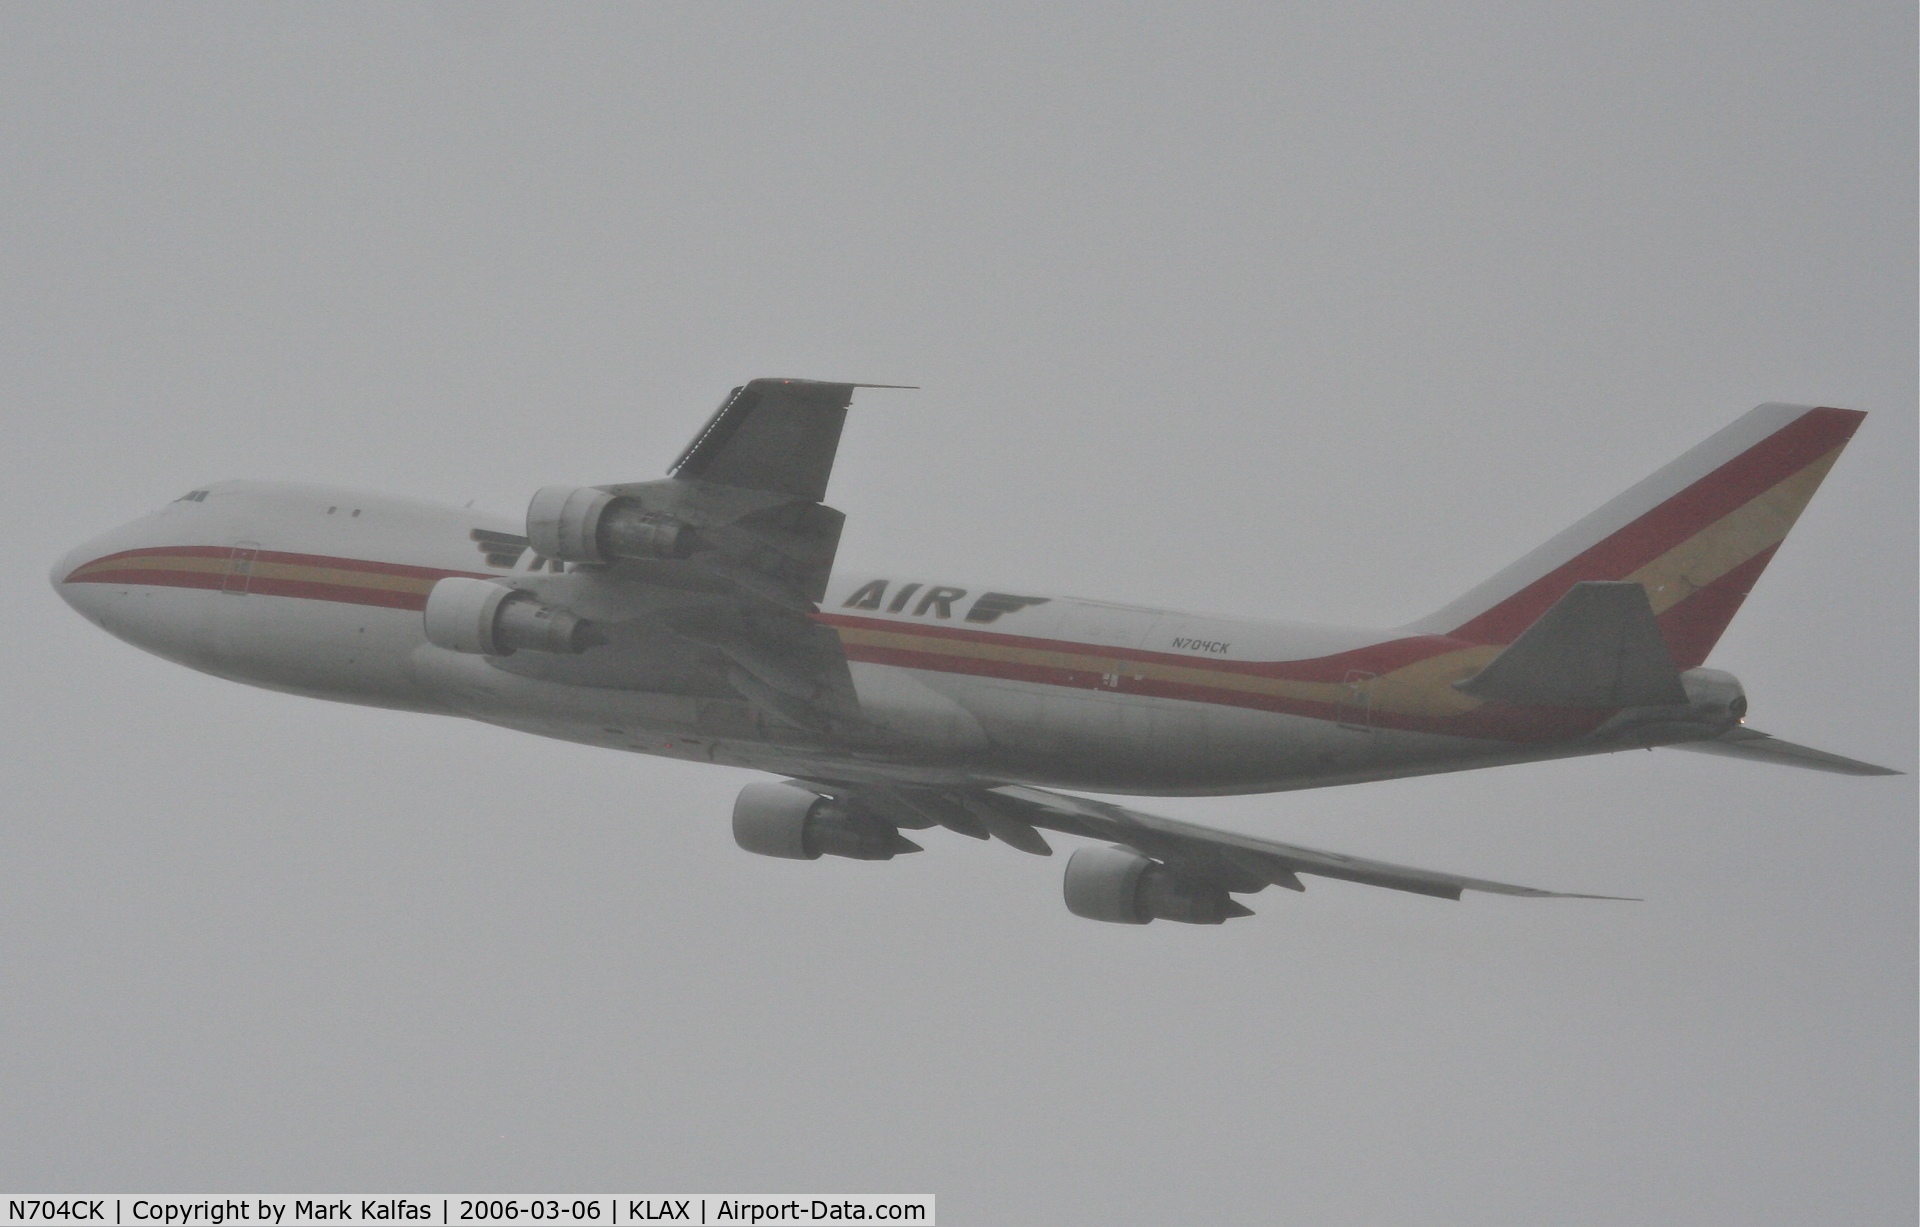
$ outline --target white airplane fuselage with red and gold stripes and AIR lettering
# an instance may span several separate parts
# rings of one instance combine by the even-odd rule
[[[430,645],[420,609],[438,578],[515,580],[540,565],[524,551],[511,565],[486,557],[476,530],[522,532],[501,517],[292,484],[225,482],[196,495],[63,557],[61,597],[121,639],[234,682],[649,755],[1177,795],[1713,735],[1647,732],[1630,712],[1490,709],[1452,682],[1498,649],[1432,634],[835,572],[816,622],[839,634],[862,718],[887,735],[829,741],[770,724],[737,695],[649,682],[645,668],[618,686],[584,684],[534,653],[503,661]]]

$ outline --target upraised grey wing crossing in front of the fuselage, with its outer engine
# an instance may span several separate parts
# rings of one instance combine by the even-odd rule
[[[812,622],[839,547],[822,503],[854,388],[756,378],[733,388],[668,478],[534,497],[538,553],[576,563],[515,588],[593,624],[580,659],[501,661],[553,682],[733,695],[778,724],[860,728],[839,636]],[[536,528],[538,520],[538,528]]]

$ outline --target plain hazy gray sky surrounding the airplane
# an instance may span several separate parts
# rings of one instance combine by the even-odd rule
[[[1872,417],[1713,664],[1914,768],[1910,4],[0,10],[0,1187],[929,1191],[945,1223],[1910,1223],[1914,782],[1150,808],[1642,904],[728,835],[753,776],[58,603],[198,482],[513,505],[866,392],[847,565],[1396,624],[1747,407]]]

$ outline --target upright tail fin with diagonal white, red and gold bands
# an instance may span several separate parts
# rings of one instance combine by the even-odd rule
[[[1511,643],[1574,584],[1634,580],[1674,666],[1693,668],[1864,417],[1761,405],[1407,630]]]

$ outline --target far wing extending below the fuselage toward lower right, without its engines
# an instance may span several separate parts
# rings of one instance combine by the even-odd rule
[[[1210,883],[1233,893],[1252,893],[1267,885],[1304,891],[1306,885],[1300,878],[1313,876],[1436,899],[1459,899],[1463,891],[1528,899],[1622,899],[1620,895],[1542,891],[1442,870],[1325,853],[1020,783],[987,789],[900,789],[804,780],[795,780],[795,783],[862,806],[879,818],[906,818],[904,826],[937,824],[975,839],[991,835],[1037,854],[1052,851],[1039,830],[1104,839],[1165,864],[1187,881]]]

